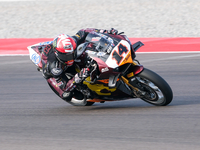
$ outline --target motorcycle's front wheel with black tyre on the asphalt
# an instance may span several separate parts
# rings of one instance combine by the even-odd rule
[[[150,104],[166,106],[173,99],[173,93],[168,83],[149,69],[144,68],[140,74],[130,79],[130,84],[140,89],[144,94],[140,98]]]

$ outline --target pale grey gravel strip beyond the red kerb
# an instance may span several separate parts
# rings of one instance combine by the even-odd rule
[[[199,37],[199,0],[0,0],[0,38],[111,27],[128,37]]]

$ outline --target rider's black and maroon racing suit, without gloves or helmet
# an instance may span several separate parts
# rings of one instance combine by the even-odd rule
[[[82,29],[76,33],[76,35],[72,36],[72,38],[75,40],[77,47],[81,43],[84,43],[86,36],[90,32],[101,32],[105,33],[107,30],[98,30],[93,28],[87,28]],[[107,32],[108,33],[108,32]],[[109,33],[113,34],[113,33]],[[74,84],[74,78],[81,69],[86,68],[86,63],[91,60],[90,57],[88,57],[85,53],[82,54],[79,58],[79,62],[74,62],[74,64],[70,67],[64,65],[61,63],[54,53],[54,49],[52,44],[47,45],[47,50],[44,50],[43,59],[46,59],[46,63],[43,61],[43,76],[47,79],[47,82],[49,83],[52,90],[57,93],[62,99],[64,100],[71,100],[73,94],[73,84]],[[76,53],[76,49],[75,49]],[[71,78],[67,78],[66,73],[69,73]],[[55,83],[56,82],[56,83]],[[59,86],[59,87],[58,87]],[[65,94],[66,92],[71,92],[70,94]],[[74,92],[74,90],[73,90]],[[75,91],[78,92],[78,91]],[[80,94],[74,94],[74,95],[80,95]],[[79,99],[79,98],[77,98]],[[80,98],[81,99],[81,98]]]

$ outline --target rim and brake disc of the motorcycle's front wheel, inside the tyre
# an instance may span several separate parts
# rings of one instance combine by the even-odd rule
[[[139,88],[146,92],[144,97],[141,99],[153,104],[162,104],[166,101],[162,90],[160,90],[159,87],[156,86],[153,82],[141,77],[136,78],[139,81]]]

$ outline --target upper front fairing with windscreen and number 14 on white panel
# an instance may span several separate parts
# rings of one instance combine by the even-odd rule
[[[100,33],[89,33],[86,41],[90,42],[87,53],[90,57],[103,60],[108,67],[116,68],[125,63],[132,63],[131,45],[125,39],[115,39]]]

